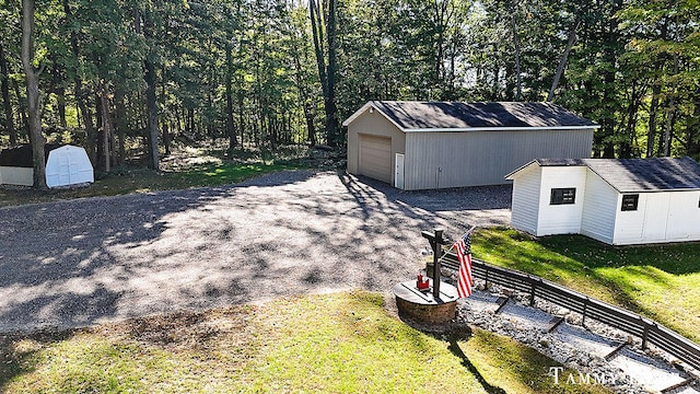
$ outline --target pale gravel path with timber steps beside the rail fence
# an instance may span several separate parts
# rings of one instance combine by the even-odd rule
[[[482,285],[479,287],[483,289]],[[497,289],[495,293],[476,290],[469,298],[460,300],[457,321],[514,338],[578,372],[572,378],[562,375],[562,385],[568,384],[568,379],[580,385],[590,384],[597,379],[597,382],[603,382],[615,393],[657,393],[690,378],[666,361],[673,359],[669,355],[658,349],[650,350],[648,355],[640,349],[639,344],[628,345],[605,359],[618,345],[627,341],[627,335],[599,323],[588,321],[588,326],[584,329],[568,323],[571,316],[567,316],[565,322],[549,332],[555,315],[523,304],[527,294],[511,298],[497,314],[497,300],[501,294],[498,293],[499,287],[493,288]],[[551,304],[548,306],[559,309]],[[586,374],[592,376],[591,380],[585,378]],[[553,383],[553,374],[550,376]],[[697,389],[700,387],[688,384],[667,393],[698,394],[700,391]]]

